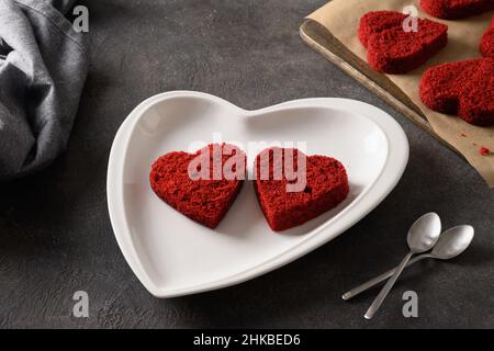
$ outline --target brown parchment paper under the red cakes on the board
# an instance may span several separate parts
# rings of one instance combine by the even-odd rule
[[[434,131],[460,151],[494,188],[494,154],[480,155],[481,147],[494,151],[494,127],[478,127],[457,116],[434,112],[425,106],[418,95],[418,84],[424,71],[434,65],[481,57],[479,44],[487,29],[493,12],[457,21],[438,20],[422,11],[419,0],[333,0],[307,19],[325,26],[338,41],[359,58],[367,61],[367,50],[357,37],[360,18],[369,11],[394,10],[402,12],[415,5],[419,18],[428,18],[449,26],[448,46],[423,67],[406,75],[386,75],[426,115]],[[494,97],[493,97],[494,99]]]

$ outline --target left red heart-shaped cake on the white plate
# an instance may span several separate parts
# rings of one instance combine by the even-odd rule
[[[246,156],[236,146],[211,144],[188,154],[158,158],[149,181],[153,191],[187,217],[215,228],[228,212],[245,179]]]

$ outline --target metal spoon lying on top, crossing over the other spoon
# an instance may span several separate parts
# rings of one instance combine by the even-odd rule
[[[394,283],[396,283],[400,274],[402,274],[406,263],[408,263],[412,256],[430,250],[436,244],[440,234],[441,234],[441,219],[434,212],[425,214],[412,225],[412,227],[408,230],[407,237],[409,252],[402,260],[397,269],[394,271],[393,276],[390,278],[388,283],[379,293],[378,297],[375,297],[374,302],[367,310],[364,315],[367,319],[371,319],[378,312],[379,307],[381,307],[381,304],[390,293]]]

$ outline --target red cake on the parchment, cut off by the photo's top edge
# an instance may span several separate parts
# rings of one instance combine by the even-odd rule
[[[492,0],[420,0],[428,14],[445,20],[464,19],[494,9]]]

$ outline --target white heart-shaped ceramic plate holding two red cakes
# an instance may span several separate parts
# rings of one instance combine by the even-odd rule
[[[161,202],[148,176],[159,156],[212,141],[214,133],[245,146],[306,141],[307,155],[345,165],[350,194],[334,211],[273,233],[247,181],[220,226],[205,228]],[[205,93],[167,92],[139,104],[116,134],[108,170],[110,217],[125,259],[153,295],[193,294],[267,273],[334,239],[391,192],[407,160],[400,125],[362,102],[306,99],[246,111]]]

